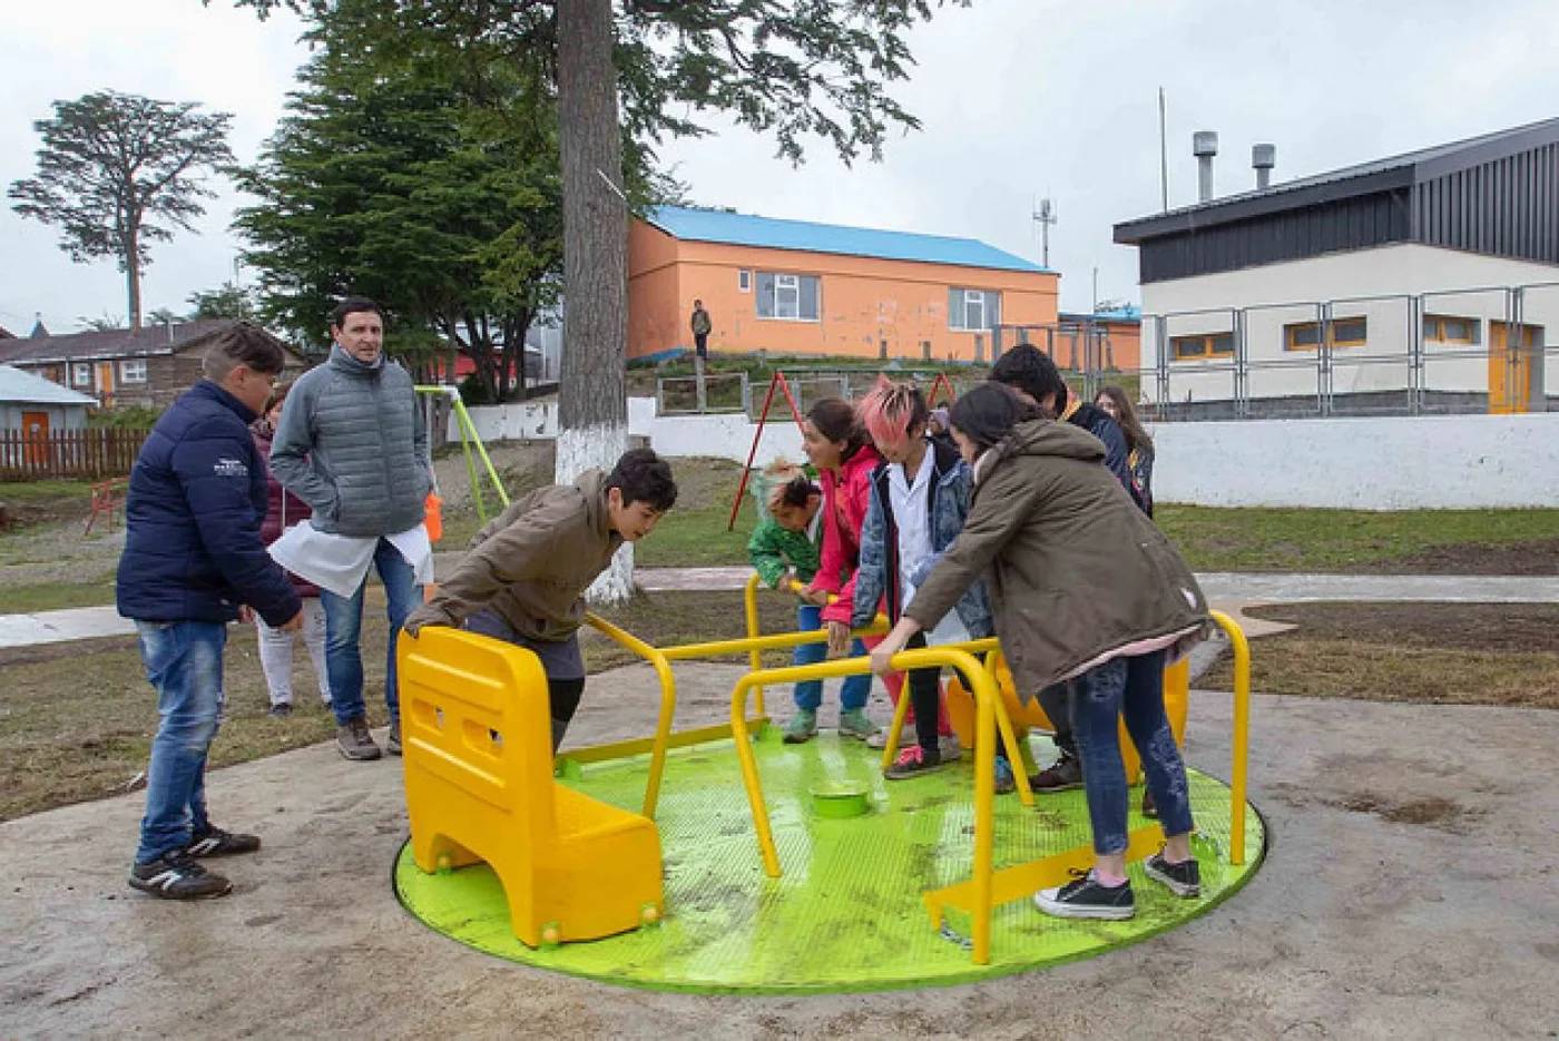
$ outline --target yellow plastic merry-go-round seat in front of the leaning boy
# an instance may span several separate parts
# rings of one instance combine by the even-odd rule
[[[557,784],[547,676],[530,651],[429,626],[401,634],[401,745],[422,871],[486,862],[527,946],[661,916],[655,821]]]

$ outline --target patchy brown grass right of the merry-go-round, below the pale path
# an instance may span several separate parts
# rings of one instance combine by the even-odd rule
[[[1559,709],[1559,605],[1297,603],[1249,614],[1299,625],[1252,642],[1260,693]],[[1197,686],[1230,690],[1228,656]]]

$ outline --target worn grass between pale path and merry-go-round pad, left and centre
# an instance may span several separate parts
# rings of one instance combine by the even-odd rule
[[[759,603],[764,631],[794,628],[792,598],[772,594]],[[653,594],[603,616],[661,647],[745,634],[741,592]],[[384,647],[384,595],[371,588],[363,619],[363,667],[374,726],[387,722]],[[638,661],[592,630],[583,647],[591,672]],[[789,661],[784,655],[773,656],[773,664],[784,661]],[[335,717],[315,697],[301,644],[293,669],[292,717],[274,720],[265,714],[265,678],[249,626],[229,628],[224,686],[226,722],[212,745],[214,767],[273,756],[335,734]],[[122,790],[145,770],[156,726],[156,695],[133,637],[0,651],[0,820]]]

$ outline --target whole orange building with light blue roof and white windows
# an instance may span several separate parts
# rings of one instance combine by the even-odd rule
[[[996,326],[1055,326],[1060,276],[973,238],[663,206],[628,234],[628,357],[709,351],[990,362]]]

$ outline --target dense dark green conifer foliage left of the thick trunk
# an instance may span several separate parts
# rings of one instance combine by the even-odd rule
[[[525,330],[557,295],[550,106],[502,70],[475,95],[405,41],[398,55],[360,48],[352,30],[373,6],[340,5],[310,33],[320,51],[304,86],[242,178],[260,198],[237,228],[262,310],[318,341],[335,301],[371,296],[394,319],[391,349],[455,346],[502,399]]]

